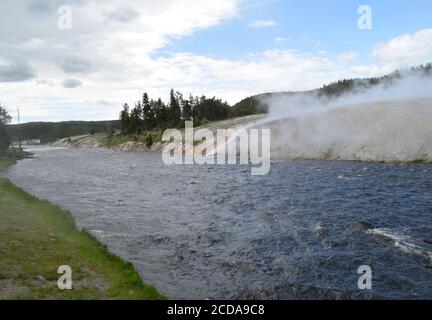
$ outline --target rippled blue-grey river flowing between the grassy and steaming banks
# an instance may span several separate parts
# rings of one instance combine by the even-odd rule
[[[31,151],[6,175],[170,298],[432,298],[430,164],[274,161],[254,177],[157,153]]]

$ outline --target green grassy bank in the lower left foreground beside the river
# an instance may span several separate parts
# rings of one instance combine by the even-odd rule
[[[0,171],[16,162],[0,158]],[[163,299],[131,263],[111,254],[69,212],[0,179],[0,299]],[[68,265],[73,289],[59,290]]]

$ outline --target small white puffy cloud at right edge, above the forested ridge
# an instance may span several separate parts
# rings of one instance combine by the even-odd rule
[[[404,34],[378,44],[372,53],[388,69],[407,68],[432,60],[432,29]]]

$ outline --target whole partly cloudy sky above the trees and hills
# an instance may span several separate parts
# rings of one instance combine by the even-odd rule
[[[1,0],[16,122],[110,120],[168,100],[309,90],[432,61],[430,0]]]

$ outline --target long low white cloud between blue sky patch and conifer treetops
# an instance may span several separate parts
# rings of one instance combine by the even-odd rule
[[[164,86],[173,85],[184,92],[202,90],[230,103],[263,92],[314,89],[369,71],[347,67],[328,56],[295,50],[267,50],[242,60],[179,53],[156,62],[157,69],[164,70],[159,75]]]

